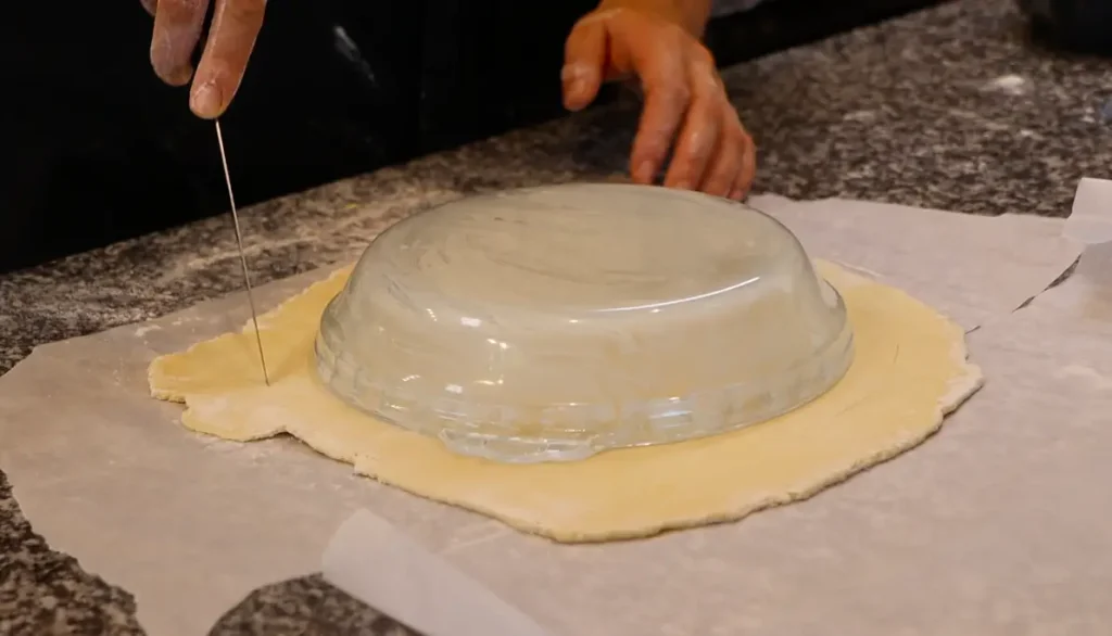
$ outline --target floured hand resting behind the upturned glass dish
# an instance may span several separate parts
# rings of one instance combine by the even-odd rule
[[[564,105],[579,110],[604,81],[636,77],[645,107],[629,158],[634,181],[652,183],[672,149],[665,186],[741,199],[756,149],[711,52],[679,17],[622,4],[604,1],[568,36]]]

